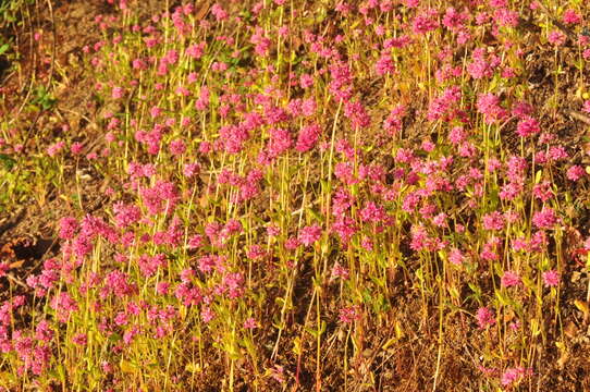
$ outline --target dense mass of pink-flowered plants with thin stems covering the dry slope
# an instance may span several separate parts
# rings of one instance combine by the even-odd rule
[[[107,3],[97,143],[28,152],[72,208],[7,281],[2,388],[556,388],[590,321],[583,2]]]

